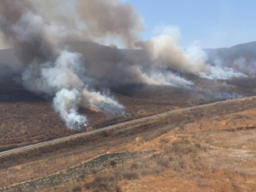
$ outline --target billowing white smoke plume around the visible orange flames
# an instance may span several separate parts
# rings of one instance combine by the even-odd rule
[[[71,129],[87,124],[86,117],[77,114],[79,106],[95,108],[112,115],[124,115],[124,106],[108,94],[89,90],[88,78],[81,62],[81,54],[63,51],[55,62],[31,64],[23,73],[27,89],[54,96],[54,109]],[[84,70],[83,70],[84,69]]]

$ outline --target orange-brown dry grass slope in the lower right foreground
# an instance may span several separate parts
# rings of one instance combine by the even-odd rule
[[[242,109],[243,103],[244,109],[234,111],[229,107],[228,113],[218,111],[221,104],[217,108],[195,110],[207,118],[202,117],[183,124],[182,128],[162,132],[158,137],[137,137],[133,143],[123,146],[136,150],[155,149],[153,155],[44,192],[253,192],[256,190],[255,102],[233,103],[237,109]],[[209,116],[208,110],[217,110],[219,115]]]

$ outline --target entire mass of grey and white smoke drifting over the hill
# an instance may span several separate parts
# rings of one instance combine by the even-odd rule
[[[207,55],[197,47],[184,50],[178,28],[160,27],[156,36],[142,42],[140,15],[131,4],[119,0],[0,0],[0,19],[2,41],[19,48],[24,86],[54,96],[54,109],[73,129],[87,124],[86,117],[77,113],[79,106],[124,115],[124,106],[108,93],[112,85],[193,84],[170,69],[212,79],[244,76],[231,68],[206,64]],[[83,55],[58,44],[74,40],[129,49],[136,45],[143,54],[123,52],[121,60],[88,64]],[[95,85],[103,91],[95,91]]]

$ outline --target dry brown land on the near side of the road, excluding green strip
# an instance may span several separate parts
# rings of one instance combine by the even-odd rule
[[[249,185],[254,187],[256,170],[253,151],[255,116],[256,99],[244,99],[124,126],[108,131],[107,137],[97,133],[6,156],[0,159],[0,186],[44,177],[106,151],[155,149],[157,152],[154,156],[135,162],[139,164],[135,173],[130,171],[130,166],[137,166],[132,165],[133,162],[97,173],[97,177],[117,174],[118,179],[108,186],[111,190],[121,186],[124,191],[156,191],[158,188],[162,191],[170,188],[177,191],[186,191],[186,188],[209,191],[217,186],[216,183],[221,183],[224,191],[234,188],[239,191],[239,186],[244,187],[244,191],[250,191]],[[96,174],[66,186],[77,185],[85,190],[83,185],[94,182],[95,177]],[[103,180],[109,182],[108,178]],[[163,185],[167,180],[168,185]],[[102,191],[97,187],[97,179],[95,182],[92,186],[96,187],[92,187],[92,190]],[[186,185],[178,185],[181,182]],[[72,191],[73,187],[60,186],[56,190],[66,188]],[[219,189],[216,188],[217,191]]]

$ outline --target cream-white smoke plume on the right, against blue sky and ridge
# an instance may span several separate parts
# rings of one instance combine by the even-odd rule
[[[211,79],[228,79],[230,77],[245,76],[235,72],[232,68],[221,68],[206,63],[207,54],[196,46],[185,49],[180,46],[180,30],[172,26],[160,26],[155,29],[159,33],[149,42],[142,44],[142,48],[152,56],[154,65],[172,68],[184,73]]]

